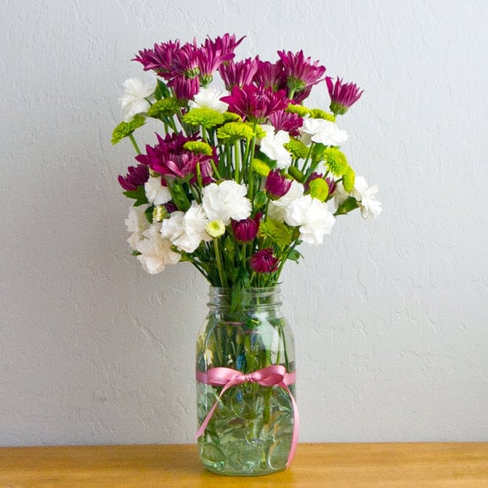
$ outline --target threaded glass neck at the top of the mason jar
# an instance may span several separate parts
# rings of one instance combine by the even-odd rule
[[[209,287],[209,309],[245,311],[276,309],[281,305],[279,286],[232,288]]]

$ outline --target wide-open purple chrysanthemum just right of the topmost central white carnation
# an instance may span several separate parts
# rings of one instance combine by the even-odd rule
[[[285,91],[274,92],[272,88],[250,84],[241,88],[234,86],[230,95],[220,99],[229,104],[229,112],[257,122],[263,122],[273,112],[285,110],[289,105]]]

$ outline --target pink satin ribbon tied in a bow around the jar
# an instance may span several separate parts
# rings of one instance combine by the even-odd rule
[[[207,373],[202,373],[197,369],[196,378],[197,381],[201,383],[224,387],[218,396],[218,400],[216,400],[216,403],[212,406],[207,414],[207,417],[205,417],[205,420],[201,424],[200,429],[198,429],[196,437],[201,437],[201,435],[205,432],[205,429],[207,429],[209,421],[215,412],[216,405],[218,405],[218,401],[222,398],[225,391],[232,388],[232,386],[250,382],[258,383],[262,386],[279,386],[283,390],[286,390],[291,398],[294,416],[291,448],[287,460],[287,467],[289,466],[293,456],[295,455],[296,445],[298,444],[298,427],[300,425],[298,407],[296,406],[295,398],[288,388],[288,385],[295,383],[295,373],[287,373],[285,366],[281,365],[267,366],[249,374],[243,374],[240,371],[231,369],[229,367],[212,367],[209,369],[209,371],[207,371]]]

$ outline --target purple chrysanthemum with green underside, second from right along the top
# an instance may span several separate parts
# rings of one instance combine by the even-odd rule
[[[324,81],[325,66],[319,66],[319,61],[311,62],[305,58],[303,51],[278,51],[279,62],[287,75],[287,87],[290,98],[302,101],[311,91],[311,87]],[[305,96],[303,96],[305,94]]]

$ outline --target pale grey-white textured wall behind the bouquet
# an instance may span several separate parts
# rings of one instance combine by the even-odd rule
[[[486,1],[20,0],[0,24],[0,445],[193,442],[207,286],[130,256],[110,138],[136,51],[225,31],[365,89],[344,150],[384,213],[284,276],[301,440],[488,440]]]

